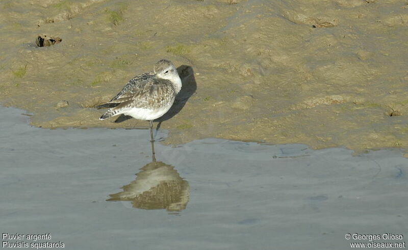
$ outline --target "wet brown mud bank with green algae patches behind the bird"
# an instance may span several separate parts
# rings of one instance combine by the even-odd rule
[[[165,58],[191,66],[183,84],[197,89],[163,121],[165,143],[218,137],[408,150],[403,4],[236,2],[4,1],[2,43],[15,46],[0,51],[2,103],[30,110],[41,127],[147,126],[100,122],[94,107]],[[64,41],[36,48],[44,33]],[[56,109],[63,100],[70,104]]]

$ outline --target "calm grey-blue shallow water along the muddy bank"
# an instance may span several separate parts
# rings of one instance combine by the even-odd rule
[[[22,113],[0,108],[2,233],[66,249],[349,249],[346,233],[407,232],[399,150],[205,139],[157,143],[155,169],[148,130],[41,129]],[[122,186],[137,199],[106,201]]]

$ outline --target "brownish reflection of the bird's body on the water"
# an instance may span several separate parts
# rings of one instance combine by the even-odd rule
[[[152,157],[136,174],[136,180],[110,195],[107,201],[130,201],[134,208],[181,211],[187,206],[189,185],[174,167]]]

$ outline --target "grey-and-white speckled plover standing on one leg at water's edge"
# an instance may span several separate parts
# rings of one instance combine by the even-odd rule
[[[166,114],[181,88],[182,80],[174,65],[168,60],[160,60],[153,71],[135,76],[112,100],[97,106],[109,108],[99,120],[124,114],[150,121],[151,149],[154,155],[153,120]]]

